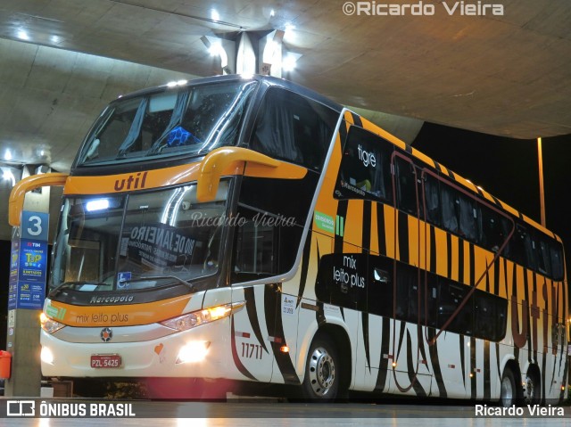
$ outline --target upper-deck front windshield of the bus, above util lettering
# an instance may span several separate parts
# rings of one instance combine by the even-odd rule
[[[76,166],[200,155],[235,145],[256,85],[236,80],[120,98],[95,122]]]

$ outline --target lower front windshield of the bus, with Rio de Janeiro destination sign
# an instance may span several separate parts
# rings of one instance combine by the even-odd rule
[[[67,197],[54,245],[52,287],[125,291],[185,283],[219,270],[228,181],[214,201],[196,185],[107,197]]]

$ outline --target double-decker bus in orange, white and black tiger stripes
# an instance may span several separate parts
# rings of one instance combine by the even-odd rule
[[[121,96],[63,185],[48,377],[567,396],[559,237],[326,97],[269,77]]]

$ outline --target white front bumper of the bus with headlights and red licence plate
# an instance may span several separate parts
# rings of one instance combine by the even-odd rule
[[[144,327],[144,326],[143,326]],[[156,328],[155,325],[149,325]],[[68,329],[69,328],[69,329]],[[44,376],[232,378],[234,364],[229,321],[222,319],[184,332],[134,341],[129,326],[73,328],[65,333],[41,331]],[[142,326],[137,326],[137,335]],[[70,336],[81,339],[70,341]],[[156,335],[156,334],[155,334]],[[115,340],[113,337],[120,337]],[[126,339],[125,337],[129,337]],[[140,336],[140,335],[139,335]],[[148,337],[147,337],[148,338]],[[230,357],[231,360],[231,357]]]

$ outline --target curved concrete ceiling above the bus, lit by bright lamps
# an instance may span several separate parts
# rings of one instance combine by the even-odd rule
[[[352,2],[386,3],[434,14],[348,14],[344,0],[2,0],[0,163],[69,171],[117,95],[218,74],[203,36],[273,29],[302,54],[285,78],[374,119],[383,111],[417,130],[430,121],[525,139],[571,134],[571,2],[482,1],[503,11],[480,16],[435,0]]]

